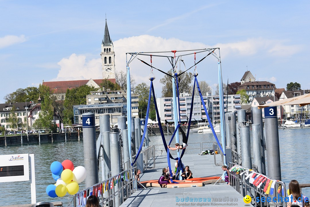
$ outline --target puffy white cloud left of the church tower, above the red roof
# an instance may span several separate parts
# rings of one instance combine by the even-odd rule
[[[102,78],[100,58],[86,60],[85,55],[72,54],[57,64],[60,65],[60,70],[57,77],[51,81]]]

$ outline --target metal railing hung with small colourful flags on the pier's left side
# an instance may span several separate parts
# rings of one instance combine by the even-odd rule
[[[89,188],[85,188],[82,191],[77,192],[73,196],[74,207],[84,206],[81,205],[83,196],[89,196],[90,191],[93,195],[99,198],[100,206],[118,206],[121,205],[126,199],[128,199],[137,190],[137,181],[135,178],[136,165],[124,170],[113,177],[106,179],[100,183],[97,183]],[[101,189],[101,195],[98,191]],[[80,205],[79,205],[79,204]]]

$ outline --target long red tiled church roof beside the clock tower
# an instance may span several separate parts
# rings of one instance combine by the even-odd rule
[[[94,79],[96,84],[100,85],[105,79]],[[108,79],[115,84],[115,78]],[[44,82],[43,85],[48,86],[54,93],[66,93],[68,88],[77,88],[88,83],[89,80],[66,80],[66,81],[50,81]]]

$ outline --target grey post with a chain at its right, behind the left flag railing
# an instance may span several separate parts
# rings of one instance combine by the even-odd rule
[[[110,152],[111,152],[111,163],[113,163],[113,165],[111,165],[111,173],[113,177],[114,175],[117,175],[122,171],[118,132],[110,133]],[[114,187],[114,191],[117,192],[117,190],[118,190],[118,185]],[[118,200],[118,196],[116,196],[114,199],[113,206],[119,206],[119,205],[121,205],[121,203]]]

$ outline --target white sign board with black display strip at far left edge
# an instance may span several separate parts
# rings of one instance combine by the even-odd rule
[[[29,154],[0,155],[0,183],[29,180]]]

